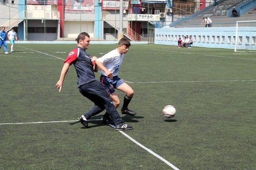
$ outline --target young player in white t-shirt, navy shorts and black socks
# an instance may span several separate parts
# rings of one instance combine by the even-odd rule
[[[123,114],[135,115],[136,113],[134,111],[128,109],[128,104],[132,100],[134,91],[128,84],[118,77],[118,70],[122,65],[124,54],[128,52],[130,45],[130,41],[127,38],[120,39],[117,49],[114,49],[106,55],[98,58],[95,63],[98,68],[102,69],[100,70],[102,74],[100,76],[100,83],[105,87],[114,106],[118,107],[120,104],[120,100],[115,92],[115,89],[117,89],[126,94],[121,112]],[[105,115],[102,117],[103,121],[104,119],[108,119]]]

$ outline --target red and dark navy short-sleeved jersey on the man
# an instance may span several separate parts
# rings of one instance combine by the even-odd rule
[[[91,56],[81,47],[70,51],[64,63],[74,64],[78,87],[96,80]]]

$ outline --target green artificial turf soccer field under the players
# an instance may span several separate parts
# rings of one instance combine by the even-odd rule
[[[101,57],[116,46],[88,52]],[[104,112],[89,129],[76,121],[93,103],[78,91],[74,66],[62,92],[55,88],[74,47],[1,49],[0,169],[256,169],[255,53],[132,45],[119,76],[134,89],[137,114],[121,115],[134,129],[119,132],[99,120]],[[174,118],[162,115],[166,105],[176,107]]]

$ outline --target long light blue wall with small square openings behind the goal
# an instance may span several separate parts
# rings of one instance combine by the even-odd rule
[[[256,50],[256,27],[239,27],[237,49]],[[236,27],[156,28],[155,44],[177,45],[178,36],[192,35],[193,46],[234,49]]]

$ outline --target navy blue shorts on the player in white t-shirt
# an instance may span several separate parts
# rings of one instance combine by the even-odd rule
[[[115,92],[115,88],[118,88],[122,84],[124,84],[124,81],[119,78],[118,76],[114,76],[112,79],[107,76],[100,76],[100,83],[104,88],[106,89],[106,93],[108,95]]]

